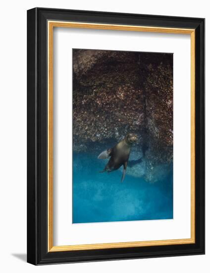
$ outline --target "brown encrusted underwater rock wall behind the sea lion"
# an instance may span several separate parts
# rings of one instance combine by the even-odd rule
[[[142,158],[127,173],[160,179],[173,160],[173,55],[74,49],[74,151],[97,156],[127,133],[138,135],[130,159]]]

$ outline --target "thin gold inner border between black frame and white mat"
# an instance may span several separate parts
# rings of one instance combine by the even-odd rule
[[[191,238],[53,246],[53,28],[90,28],[190,34],[191,36]],[[94,250],[195,243],[195,29],[48,20],[48,252]]]

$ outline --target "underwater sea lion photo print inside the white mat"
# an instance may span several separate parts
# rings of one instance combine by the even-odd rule
[[[72,55],[72,222],[173,218],[173,54]]]

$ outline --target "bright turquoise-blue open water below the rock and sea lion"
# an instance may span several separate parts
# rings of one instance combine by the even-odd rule
[[[73,154],[73,223],[173,218],[172,167],[164,180],[146,182],[120,170],[99,173],[106,161]]]

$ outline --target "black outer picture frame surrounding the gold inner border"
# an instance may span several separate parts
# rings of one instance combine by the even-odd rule
[[[195,29],[194,244],[48,252],[48,20]],[[205,19],[36,7],[27,11],[27,37],[27,262],[47,265],[205,254]]]

